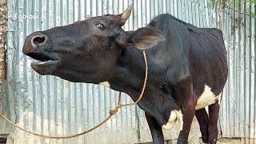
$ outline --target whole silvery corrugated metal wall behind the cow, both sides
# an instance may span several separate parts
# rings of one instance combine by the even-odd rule
[[[40,76],[30,69],[31,59],[22,54],[26,35],[63,26],[86,15],[119,14],[127,0],[8,0],[7,81],[2,98],[5,113],[18,125],[44,134],[74,134],[105,118],[114,108],[117,93],[102,86],[72,83],[53,76]],[[234,6],[246,13],[255,6]],[[200,27],[216,27],[216,13],[207,0],[134,0],[134,11],[124,26],[136,30],[154,16],[170,13]],[[32,14],[34,19],[18,18]],[[230,77],[220,114],[225,137],[255,138],[255,18],[226,10],[223,30],[228,51]],[[17,18],[16,18],[17,17]],[[240,19],[242,18],[241,22]],[[125,94],[123,101],[130,102]],[[1,133],[11,133],[15,143],[134,143],[151,140],[143,111],[131,106],[90,134],[70,140],[49,140],[14,130],[0,120]],[[196,122],[195,122],[196,123]],[[198,137],[198,126],[191,137]],[[14,132],[14,133],[13,133]],[[178,130],[166,134],[177,138]],[[197,142],[195,142],[197,143]]]

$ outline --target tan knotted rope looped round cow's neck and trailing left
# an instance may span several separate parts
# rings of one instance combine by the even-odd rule
[[[110,110],[110,115],[105,118],[102,122],[98,123],[98,125],[96,126],[93,126],[91,127],[90,129],[88,130],[84,130],[80,133],[77,133],[77,134],[70,134],[70,135],[66,135],[66,136],[53,136],[53,135],[46,135],[46,134],[39,134],[37,132],[34,132],[32,130],[26,130],[24,128],[22,128],[21,126],[18,126],[17,124],[15,124],[14,122],[11,122],[9,118],[6,118],[6,116],[4,114],[1,114],[0,113],[0,116],[6,120],[6,122],[9,122],[11,126],[14,126],[16,128],[18,128],[19,130],[23,130],[25,131],[26,133],[28,134],[33,134],[33,135],[36,135],[38,137],[42,137],[42,138],[57,138],[57,139],[64,139],[64,138],[74,138],[74,137],[78,137],[80,135],[83,135],[83,134],[87,134],[89,133],[90,131],[92,130],[95,130],[97,129],[99,126],[102,126],[102,124],[104,124],[106,121],[108,121],[114,114],[116,114],[118,112],[118,110],[120,108],[122,108],[123,106],[132,106],[132,105],[136,105],[138,102],[140,102],[140,100],[142,99],[142,96],[144,94],[144,91],[145,91],[145,88],[146,88],[146,80],[147,80],[147,74],[148,74],[148,67],[147,67],[147,61],[146,61],[146,53],[145,51],[142,51],[142,54],[143,54],[143,58],[144,58],[144,62],[145,62],[145,78],[144,78],[144,83],[143,83],[143,86],[142,86],[142,92],[141,94],[139,95],[138,99],[136,100],[136,102],[131,102],[131,103],[126,103],[126,104],[122,104],[121,103],[121,94],[122,92],[119,91],[119,95],[118,95],[118,105],[113,109],[113,110]]]

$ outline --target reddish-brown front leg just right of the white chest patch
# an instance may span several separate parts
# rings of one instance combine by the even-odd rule
[[[185,102],[185,106],[183,106],[182,108],[183,126],[182,126],[182,130],[178,135],[178,144],[188,143],[190,126],[193,121],[194,113],[195,113],[194,107],[195,107],[194,98],[189,98],[189,100]]]

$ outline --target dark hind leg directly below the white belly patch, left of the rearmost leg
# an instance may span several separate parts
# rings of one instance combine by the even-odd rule
[[[208,123],[209,118],[205,108],[195,110],[195,116],[198,119],[200,131],[202,134],[202,142],[208,143]]]

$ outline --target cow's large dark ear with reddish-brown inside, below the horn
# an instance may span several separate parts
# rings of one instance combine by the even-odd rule
[[[147,50],[164,40],[165,37],[159,30],[143,27],[129,34],[126,43],[138,48],[138,50]]]

